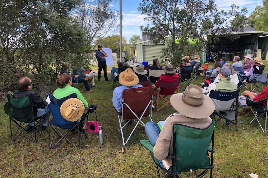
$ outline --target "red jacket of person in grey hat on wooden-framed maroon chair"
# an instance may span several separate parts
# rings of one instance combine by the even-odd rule
[[[173,75],[169,75],[169,74],[162,74],[159,78],[159,80],[163,80],[165,82],[173,82],[173,81],[176,81],[178,80],[180,77],[178,76],[178,74],[173,74]],[[155,86],[157,88],[159,88],[159,80],[157,80],[155,82]],[[160,94],[162,95],[171,95],[171,94],[174,94],[174,92],[176,91],[176,88],[173,88],[173,89],[161,89],[160,90]]]

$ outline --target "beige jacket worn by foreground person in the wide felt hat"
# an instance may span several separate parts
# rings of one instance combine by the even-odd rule
[[[194,112],[194,111],[193,111]],[[205,111],[204,111],[205,112]],[[194,128],[207,128],[212,123],[210,117],[203,119],[193,119],[186,117],[182,114],[170,115],[159,133],[159,137],[154,146],[154,155],[158,160],[162,160],[164,166],[168,170],[172,164],[170,158],[166,158],[169,154],[172,154],[173,150],[173,124],[183,124]]]

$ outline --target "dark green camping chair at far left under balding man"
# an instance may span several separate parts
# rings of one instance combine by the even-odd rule
[[[34,123],[35,126],[38,124],[42,126],[42,124],[39,123],[39,120],[42,119],[46,114],[44,114],[41,117],[36,117],[34,111],[35,107],[44,108],[46,105],[34,105],[32,96],[26,96],[19,99],[14,99],[12,96],[7,94],[7,100],[8,102],[4,106],[5,113],[9,115],[9,125],[10,125],[10,134],[11,134],[11,141],[15,141],[21,133],[24,133],[27,137],[30,138],[31,141],[37,142],[37,139],[40,134],[40,130],[36,130],[36,127],[34,127],[34,138],[31,138],[30,135],[27,133],[25,128],[27,125],[22,126],[22,123]],[[16,124],[16,132],[14,135],[12,135],[12,125],[11,123]],[[43,126],[42,126],[43,127]],[[43,127],[44,128],[44,127]],[[45,129],[45,128],[44,128]],[[47,129],[45,129],[47,131]],[[38,134],[36,131],[39,131]]]

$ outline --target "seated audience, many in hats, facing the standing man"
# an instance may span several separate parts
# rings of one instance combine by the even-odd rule
[[[189,56],[185,56],[185,58],[183,58],[184,65],[194,65],[199,61],[200,56],[196,54],[193,61],[189,60],[188,58]],[[222,64],[223,62],[224,64]],[[202,87],[208,86],[209,92],[211,90],[223,92],[236,91],[239,87],[239,80],[237,73],[233,69],[234,66],[244,66],[244,71],[247,72],[245,75],[247,76],[252,74],[253,65],[263,65],[260,58],[255,58],[253,60],[251,56],[248,55],[245,56],[244,64],[240,62],[240,58],[238,56],[234,56],[233,62],[233,65],[231,65],[231,63],[226,63],[225,58],[221,58],[220,62],[215,62],[213,66],[214,70],[212,71],[210,79],[208,80],[210,84],[205,81],[203,83],[200,83],[200,85]],[[83,69],[81,69],[78,64],[79,62],[76,61],[72,75],[67,73],[67,66],[62,66],[61,75],[59,76],[58,80],[56,80],[56,86],[58,89],[53,92],[53,96],[58,99],[64,98],[72,93],[76,93],[77,98],[79,98],[84,103],[85,107],[88,107],[88,102],[85,100],[78,89],[72,87],[72,83],[84,83],[86,92],[90,92],[92,90],[90,89],[87,80],[93,77],[92,87],[94,87],[95,73],[90,72],[91,75],[89,73],[85,74],[85,71],[83,71]],[[163,80],[165,82],[172,82],[180,78],[178,71],[174,68],[173,65],[168,64],[167,66],[162,67],[160,66],[158,59],[153,60],[153,65],[150,67],[150,70],[163,70],[164,72],[160,77],[150,78],[150,81],[155,83],[155,87],[157,88],[159,87],[160,80]],[[128,63],[118,63],[118,78],[121,86],[118,86],[113,90],[112,97],[113,107],[118,111],[118,113],[122,113],[122,91],[124,89],[142,87],[142,85],[139,85],[139,82],[149,80],[146,76],[147,72],[148,71],[144,69],[144,66],[142,64],[138,65],[137,67],[130,67]],[[46,102],[31,89],[32,83],[30,78],[22,77],[18,81],[17,90],[14,93],[14,98],[22,98],[24,96],[32,94],[34,104],[46,104]],[[170,94],[174,93],[175,90],[176,88],[163,89],[161,93]],[[266,86],[261,93],[257,93],[255,91],[250,92],[246,90],[243,92],[243,94],[249,95],[250,98],[252,98],[254,101],[260,101],[261,99],[267,97],[268,86]],[[215,119],[215,115],[212,115],[214,111],[214,103],[208,95],[205,95],[203,93],[201,87],[196,85],[189,85],[186,87],[183,93],[176,93],[171,95],[170,102],[173,108],[179,113],[171,114],[167,117],[161,132],[156,123],[146,123],[146,133],[148,135],[150,143],[154,146],[155,157],[159,160],[159,163],[162,167],[169,169],[171,165],[171,159],[166,157],[168,154],[172,153],[173,136],[172,132],[170,131],[173,128],[173,124],[183,124],[190,127],[204,129],[210,126],[210,124],[213,122],[212,119]],[[267,105],[267,103],[263,104],[264,106]],[[204,110],[206,110],[206,112],[204,112]],[[242,109],[242,111],[238,111],[238,114],[246,116],[248,111],[250,111],[250,108],[249,106],[246,106]],[[44,112],[44,109],[36,108],[35,115],[43,115]],[[45,116],[40,123],[42,123],[43,126],[46,126],[50,116],[51,113]],[[33,123],[29,123],[26,130],[31,131],[33,130],[33,127]]]

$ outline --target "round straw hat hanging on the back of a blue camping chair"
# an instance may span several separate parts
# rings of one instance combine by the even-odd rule
[[[84,103],[78,98],[70,98],[62,103],[61,115],[64,119],[74,122],[82,117],[85,111]]]

